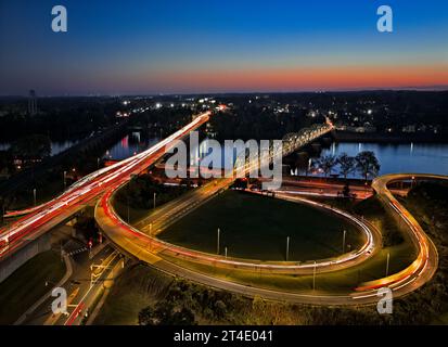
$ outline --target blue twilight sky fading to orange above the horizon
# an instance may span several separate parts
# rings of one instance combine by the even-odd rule
[[[447,43],[445,0],[0,0],[0,95],[445,88]]]

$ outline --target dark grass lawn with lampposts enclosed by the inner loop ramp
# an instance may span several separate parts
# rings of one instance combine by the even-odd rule
[[[342,254],[346,244],[355,249],[363,234],[345,219],[304,204],[227,191],[168,227],[158,237],[178,245],[261,260],[284,260],[290,236],[290,260],[323,259]]]

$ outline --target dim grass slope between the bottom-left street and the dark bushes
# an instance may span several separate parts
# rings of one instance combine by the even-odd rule
[[[144,265],[126,269],[114,283],[94,325],[135,325],[144,307],[165,293],[172,278]]]

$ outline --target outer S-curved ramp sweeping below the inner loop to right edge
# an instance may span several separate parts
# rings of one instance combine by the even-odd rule
[[[411,293],[430,281],[437,269],[438,257],[434,244],[425,235],[417,220],[398,203],[387,189],[387,183],[389,182],[406,180],[412,177],[418,179],[448,179],[448,177],[434,175],[389,175],[375,179],[372,187],[376,194],[379,194],[383,204],[392,208],[391,213],[396,214],[398,218],[405,221],[407,232],[419,250],[418,258],[409,268],[389,277],[364,283],[362,286],[357,287],[345,295],[322,295],[313,292],[302,294],[271,291],[218,279],[175,265],[158,255],[161,248],[155,244],[153,237],[149,237],[149,235],[143,232],[127,226],[123,220],[119,220],[119,218],[117,219],[117,217],[111,213],[108,200],[111,198],[112,192],[108,193],[108,196],[104,195],[99,205],[97,205],[95,218],[105,231],[107,237],[110,237],[110,240],[112,240],[112,242],[123,252],[130,254],[162,271],[180,275],[212,287],[249,296],[259,295],[268,299],[286,300],[291,303],[317,305],[376,304],[379,300],[376,290],[379,287],[388,286],[393,291],[394,297],[399,297]]]

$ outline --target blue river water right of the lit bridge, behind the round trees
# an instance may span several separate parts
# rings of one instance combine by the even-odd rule
[[[448,144],[391,144],[391,143],[333,143],[330,149],[322,150],[323,155],[350,156],[362,151],[372,151],[381,164],[381,175],[395,172],[448,175]],[[337,172],[337,168],[334,172]]]

